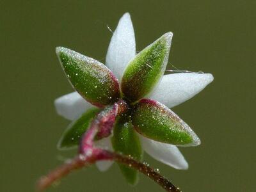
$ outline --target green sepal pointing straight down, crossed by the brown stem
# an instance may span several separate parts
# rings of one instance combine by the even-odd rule
[[[114,127],[112,145],[115,152],[131,156],[140,161],[143,156],[140,139],[131,124],[129,116],[119,116]],[[122,174],[129,184],[135,185],[138,182],[138,171],[124,164],[118,164]]]

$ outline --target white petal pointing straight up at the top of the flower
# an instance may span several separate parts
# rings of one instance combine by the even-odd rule
[[[120,82],[124,68],[136,55],[135,36],[129,13],[119,20],[111,38],[106,65]]]

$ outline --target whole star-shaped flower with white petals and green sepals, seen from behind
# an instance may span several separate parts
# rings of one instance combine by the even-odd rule
[[[73,122],[63,133],[58,148],[76,147],[93,119],[109,106],[125,103],[127,109],[108,112],[95,145],[142,159],[143,150],[173,168],[187,169],[188,163],[175,146],[196,146],[195,132],[170,108],[190,99],[211,83],[211,74],[164,75],[173,34],[165,33],[136,54],[134,29],[129,13],[120,19],[106,56],[106,65],[64,47],[56,52],[68,80],[76,90],[55,100],[59,115]],[[111,112],[111,113],[112,113]],[[110,123],[109,123],[110,122]],[[113,132],[111,131],[113,127]],[[112,161],[98,161],[107,170]],[[137,172],[120,164],[131,184]]]

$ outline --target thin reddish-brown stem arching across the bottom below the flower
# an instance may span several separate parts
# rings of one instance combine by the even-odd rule
[[[74,159],[56,168],[55,170],[50,172],[48,175],[41,177],[38,180],[36,188],[38,189],[38,191],[43,191],[44,189],[51,186],[51,184],[54,183],[56,180],[61,179],[65,175],[68,175],[68,173],[72,172],[73,170],[78,170],[79,168],[83,168],[84,166],[88,166],[99,160],[108,160],[108,161],[112,160],[118,163],[125,164],[131,168],[138,170],[144,175],[150,177],[150,179],[154,180],[166,191],[180,192],[180,189],[175,187],[172,184],[172,182],[164,178],[159,173],[155,172],[152,168],[150,168],[146,164],[140,163],[132,159],[132,157],[123,156],[121,154],[116,154],[115,152],[110,152],[108,150],[102,150],[99,148],[95,148],[95,151],[93,151],[93,155],[86,156],[86,155],[80,154],[79,156],[76,156]]]

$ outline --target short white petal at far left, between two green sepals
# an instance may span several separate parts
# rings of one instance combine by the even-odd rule
[[[92,104],[83,99],[77,92],[68,93],[54,100],[54,105],[58,115],[64,116],[68,120],[75,120],[81,116]]]

